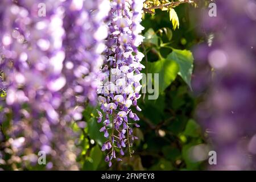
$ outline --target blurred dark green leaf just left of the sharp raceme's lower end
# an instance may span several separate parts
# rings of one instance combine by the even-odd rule
[[[100,125],[95,118],[90,118],[88,121],[88,135],[90,139],[95,140],[100,146],[106,141],[106,138],[100,133]]]

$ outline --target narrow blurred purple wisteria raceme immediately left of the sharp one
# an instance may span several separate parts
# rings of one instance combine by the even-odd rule
[[[108,36],[108,27],[104,20],[108,16],[108,0],[86,0],[64,2],[65,17],[63,40],[66,59],[64,73],[67,77],[67,93],[72,98],[65,102],[67,108],[90,101],[97,103],[96,80],[103,64],[101,53],[105,51],[104,40]],[[93,10],[93,11],[92,11]],[[80,115],[80,117],[79,117]],[[76,113],[81,119],[81,113]]]

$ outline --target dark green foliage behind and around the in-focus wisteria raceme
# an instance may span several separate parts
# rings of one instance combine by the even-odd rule
[[[197,8],[183,4],[175,7],[175,11],[180,22],[180,28],[176,30],[167,11],[156,10],[154,15],[145,14],[143,18],[144,73],[159,73],[160,89],[157,100],[148,100],[146,95],[139,101],[142,111],[137,114],[141,118],[138,122],[141,127],[135,129],[139,140],[134,143],[133,158],[127,156],[122,162],[108,167],[100,150],[105,139],[98,133],[101,126],[96,122],[97,108],[91,106],[84,112],[88,125],[81,136],[84,142],[79,160],[83,170],[205,168],[209,146],[195,119],[200,97],[193,93],[190,85],[193,56],[189,51],[203,42],[204,37],[196,33],[199,27]],[[200,156],[196,157],[195,151]]]

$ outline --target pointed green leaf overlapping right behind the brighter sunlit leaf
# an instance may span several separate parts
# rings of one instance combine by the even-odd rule
[[[191,51],[172,49],[172,52],[167,56],[167,60],[173,60],[179,64],[179,75],[191,88],[191,76],[193,71],[193,55]]]

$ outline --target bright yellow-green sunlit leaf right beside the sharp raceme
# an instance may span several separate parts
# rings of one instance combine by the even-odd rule
[[[162,59],[154,63],[148,63],[148,71],[148,73],[159,73],[159,93],[162,93],[175,80],[179,65],[173,60]],[[153,75],[152,77],[154,78]],[[156,80],[154,80],[154,86],[156,86]]]

